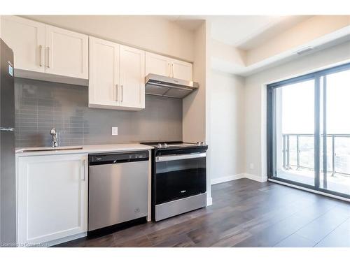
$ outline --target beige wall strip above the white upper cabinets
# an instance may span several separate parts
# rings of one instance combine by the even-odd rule
[[[193,31],[156,15],[26,15],[90,36],[116,41],[134,48],[194,61]]]

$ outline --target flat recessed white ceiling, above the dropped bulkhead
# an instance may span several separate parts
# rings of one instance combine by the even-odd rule
[[[211,38],[241,50],[251,50],[261,43],[307,20],[310,15],[169,15],[167,20],[188,30],[197,29],[203,20],[211,24]]]

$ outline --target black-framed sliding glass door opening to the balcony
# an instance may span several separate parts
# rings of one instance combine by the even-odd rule
[[[269,178],[350,196],[350,64],[267,86]]]

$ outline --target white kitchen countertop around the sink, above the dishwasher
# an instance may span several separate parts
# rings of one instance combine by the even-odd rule
[[[29,151],[25,150],[42,150],[45,147],[21,147],[16,148],[16,156],[38,156],[38,155],[51,155],[51,154],[90,154],[99,152],[125,152],[125,151],[136,151],[136,150],[151,150],[153,147],[149,145],[141,144],[116,144],[116,145],[83,145],[83,149],[76,150],[47,150],[47,151]]]

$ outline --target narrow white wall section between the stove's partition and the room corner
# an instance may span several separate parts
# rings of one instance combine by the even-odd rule
[[[211,71],[211,184],[244,173],[244,78]]]

